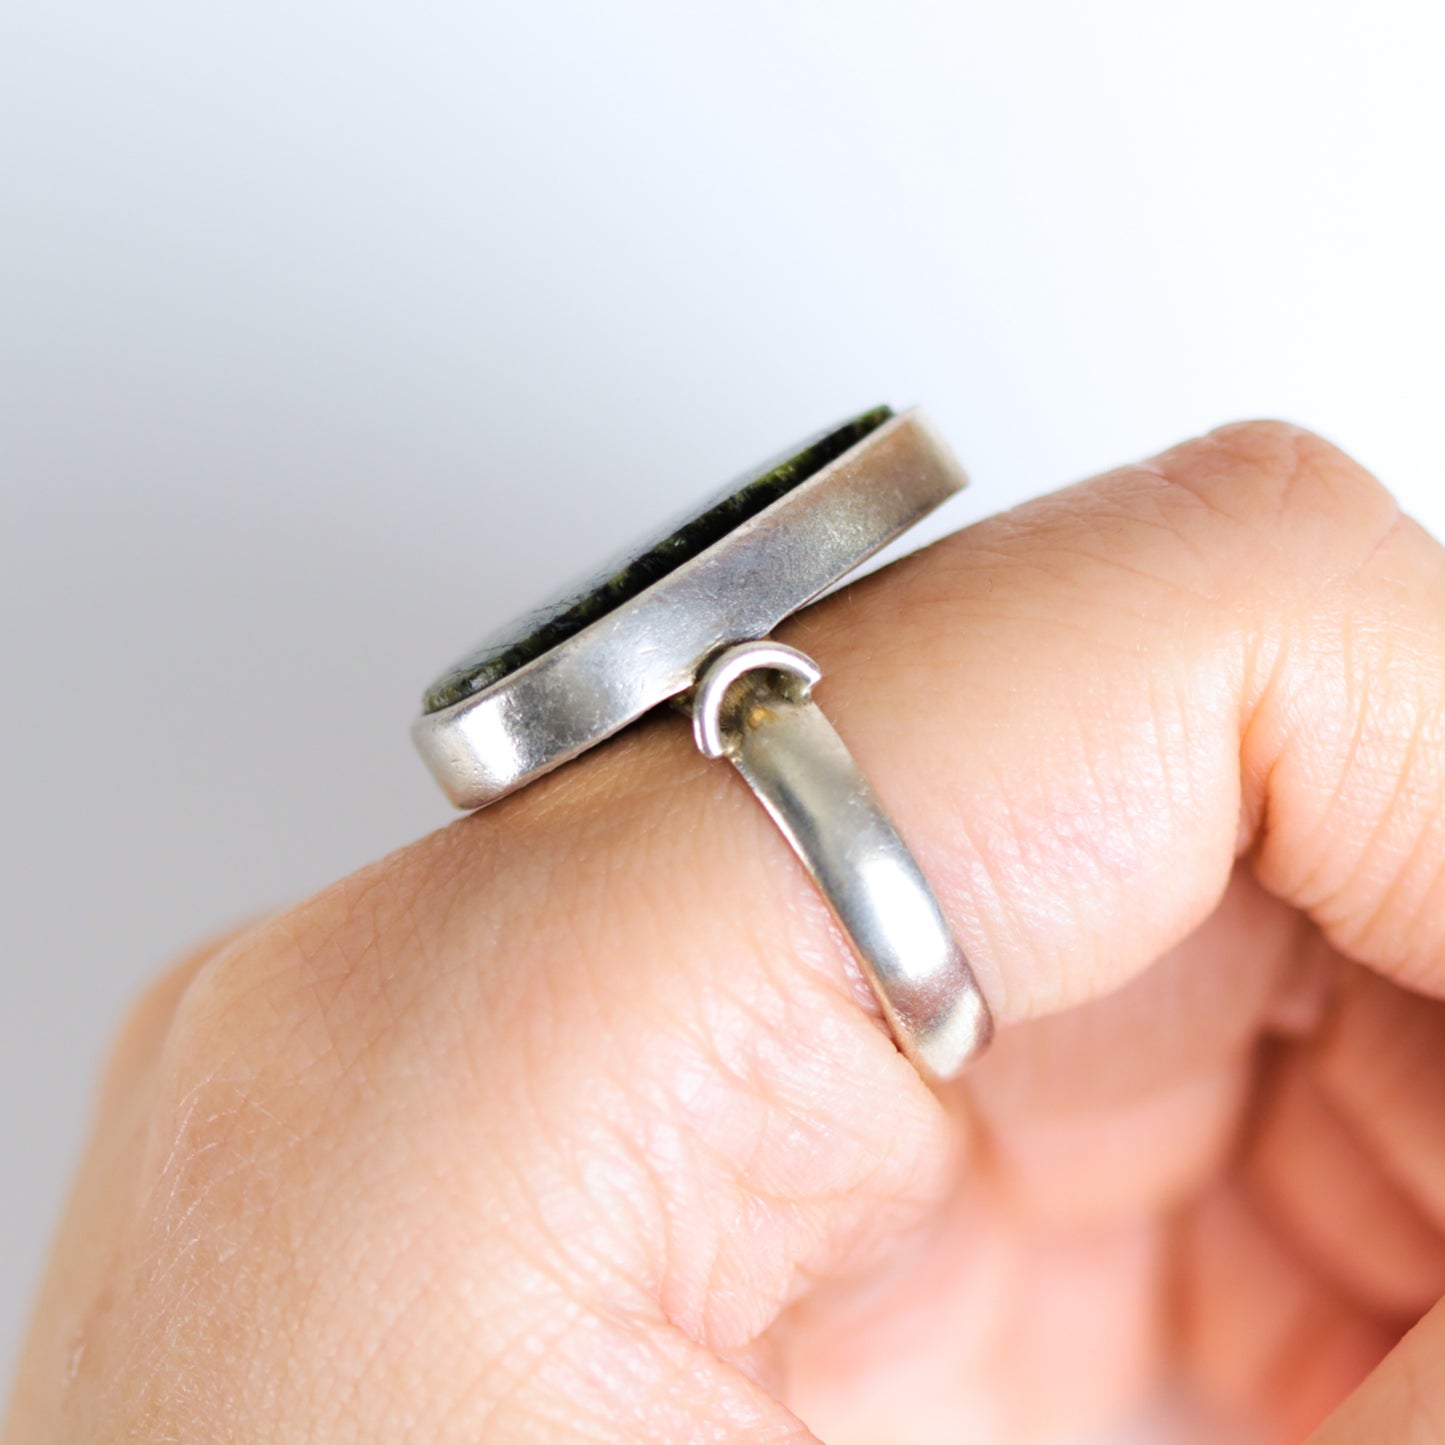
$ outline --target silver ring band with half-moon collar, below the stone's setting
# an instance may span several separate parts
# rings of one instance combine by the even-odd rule
[[[821,676],[776,642],[728,647],[698,678],[694,737],[743,775],[812,874],[899,1048],[945,1081],[988,1045],[988,1004],[918,860],[812,701]]]

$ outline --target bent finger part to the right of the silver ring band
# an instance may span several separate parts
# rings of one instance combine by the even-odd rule
[[[1251,847],[1342,951],[1438,990],[1442,558],[1327,444],[1225,428],[795,640],[837,657],[828,705],[1006,1020],[1137,974]]]

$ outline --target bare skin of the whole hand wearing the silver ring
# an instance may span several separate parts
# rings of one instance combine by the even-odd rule
[[[660,714],[136,1006],[6,1445],[1445,1439],[1445,552],[1247,423],[779,637],[993,1052]]]

